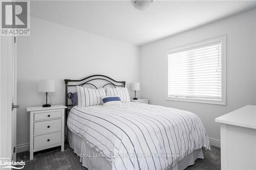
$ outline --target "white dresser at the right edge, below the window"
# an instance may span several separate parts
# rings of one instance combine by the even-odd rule
[[[221,169],[256,169],[256,106],[215,119],[221,123]]]

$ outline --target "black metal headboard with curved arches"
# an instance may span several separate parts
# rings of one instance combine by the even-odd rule
[[[86,84],[89,84],[89,85],[92,85],[94,86],[95,88],[97,88],[96,85],[90,83],[94,80],[102,80],[104,82],[106,82],[106,84],[104,84],[102,87],[105,87],[106,85],[113,85],[114,87],[125,87],[125,81],[116,81],[108,76],[104,76],[104,75],[92,75],[92,76],[89,76],[89,77],[86,77],[84,79],[81,79],[81,80],[70,80],[70,79],[65,79],[65,98],[66,98],[66,106],[67,106],[67,109],[65,111],[65,115],[66,117],[68,116],[68,110],[69,109],[69,106],[73,106],[73,105],[68,105],[68,98],[69,98],[69,94],[68,93],[68,87],[70,86],[83,86],[83,85],[86,85]],[[76,82],[76,83],[73,83],[71,85],[69,85],[68,83],[69,82]]]

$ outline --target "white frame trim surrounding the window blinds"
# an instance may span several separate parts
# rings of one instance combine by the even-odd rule
[[[169,97],[168,95],[168,75],[169,75],[168,55],[170,53],[178,53],[181,51],[189,50],[191,48],[196,48],[196,47],[207,45],[209,43],[215,43],[219,41],[221,41],[221,100],[184,98],[180,96]],[[165,100],[226,105],[226,34],[165,50]]]

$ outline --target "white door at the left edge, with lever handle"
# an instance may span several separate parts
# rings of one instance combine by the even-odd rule
[[[0,59],[0,158],[16,160],[16,44],[14,37],[2,36]],[[9,159],[9,160],[8,160]]]

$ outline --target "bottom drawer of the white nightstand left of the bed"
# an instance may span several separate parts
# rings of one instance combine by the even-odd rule
[[[47,147],[61,142],[61,132],[50,133],[34,137],[34,149]]]

